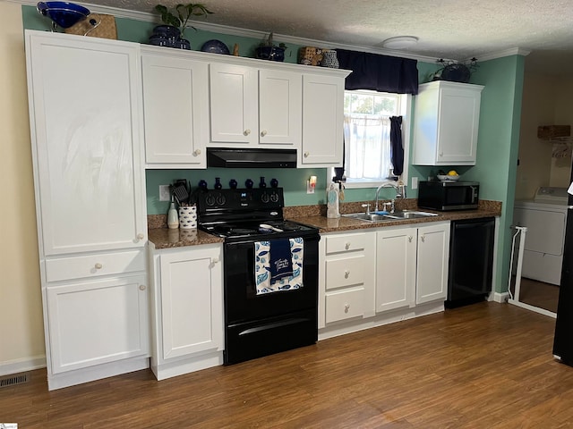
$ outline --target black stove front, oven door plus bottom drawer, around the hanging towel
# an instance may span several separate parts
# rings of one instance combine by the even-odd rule
[[[318,242],[304,237],[303,287],[256,294],[254,242],[225,244],[225,365],[318,340]]]

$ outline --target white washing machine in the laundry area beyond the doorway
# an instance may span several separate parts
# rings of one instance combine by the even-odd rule
[[[527,227],[523,277],[559,286],[567,201],[567,189],[554,187],[537,189],[533,200],[516,201],[513,223]]]

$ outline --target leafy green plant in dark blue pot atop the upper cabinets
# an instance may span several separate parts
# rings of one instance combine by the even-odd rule
[[[192,16],[201,17],[212,13],[204,4],[200,3],[177,4],[174,9],[169,9],[163,4],[157,4],[153,10],[159,13],[164,25],[158,25],[153,29],[150,43],[182,49],[191,49],[191,42],[183,38],[189,19]],[[195,29],[193,26],[190,27]]]

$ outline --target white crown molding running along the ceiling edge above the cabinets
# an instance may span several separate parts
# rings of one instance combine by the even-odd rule
[[[5,0],[9,3],[26,4],[30,6],[36,6],[38,2],[34,0]],[[116,18],[127,18],[136,21],[143,22],[154,22],[159,23],[158,15],[156,13],[145,13],[140,11],[128,11],[125,9],[119,9],[116,7],[102,6],[98,4],[83,4],[83,6],[90,9],[93,13],[107,13],[114,15]],[[244,37],[244,38],[264,38],[267,33],[264,31],[259,31],[256,29],[240,29],[238,27],[230,27],[227,25],[213,24],[210,22],[192,21],[192,26],[196,29],[202,29],[205,31],[210,31],[213,33],[227,34],[231,36]],[[368,52],[371,54],[388,55],[388,56],[399,56],[402,58],[409,58],[423,63],[436,63],[437,58],[435,56],[426,55],[414,55],[407,52],[397,51],[393,49],[376,48],[372,46],[358,46],[358,45],[348,45],[341,43],[333,43],[325,40],[316,40],[312,38],[297,38],[295,36],[287,36],[283,34],[274,33],[275,39],[280,39],[281,42],[285,44],[293,44],[299,46],[320,46],[326,49],[347,49],[349,51],[360,51]],[[528,55],[531,51],[522,48],[511,48],[497,53],[492,53],[488,55],[480,56],[479,61],[487,61],[495,58],[501,58],[503,56],[510,55]],[[446,61],[455,61],[444,58]],[[466,60],[469,61],[469,58]],[[456,61],[457,62],[457,61]]]

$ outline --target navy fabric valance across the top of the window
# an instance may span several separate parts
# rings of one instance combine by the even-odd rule
[[[341,69],[352,70],[346,89],[372,89],[395,94],[418,93],[417,60],[337,49]]]

